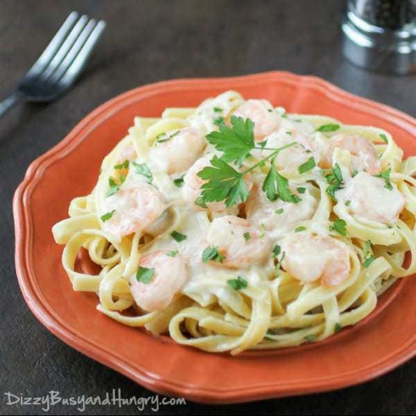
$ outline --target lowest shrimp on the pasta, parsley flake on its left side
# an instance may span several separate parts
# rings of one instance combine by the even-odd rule
[[[162,311],[171,304],[175,294],[187,281],[187,266],[180,254],[168,256],[168,250],[159,250],[140,259],[139,266],[153,269],[153,277],[146,284],[130,277],[130,290],[135,302],[145,311]]]

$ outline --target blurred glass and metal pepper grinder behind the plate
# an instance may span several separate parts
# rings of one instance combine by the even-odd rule
[[[416,0],[348,0],[345,58],[370,71],[416,73]]]

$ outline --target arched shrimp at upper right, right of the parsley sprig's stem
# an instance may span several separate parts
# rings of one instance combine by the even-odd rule
[[[367,171],[371,175],[380,173],[380,161],[374,144],[361,136],[335,135],[328,141],[328,153],[322,160],[322,168],[331,168],[335,148],[351,153],[351,171]]]

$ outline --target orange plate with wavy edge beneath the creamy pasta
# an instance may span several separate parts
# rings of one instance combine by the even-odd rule
[[[236,78],[173,80],[121,94],[89,114],[28,168],[13,201],[16,270],[28,306],[65,343],[150,390],[206,403],[252,401],[333,390],[373,379],[416,354],[416,279],[403,279],[381,297],[364,322],[323,343],[232,357],[166,342],[96,311],[94,293],[72,291],[51,227],[69,201],[94,186],[103,157],[137,114],[196,106],[236,89],[267,98],[288,112],[325,114],[343,123],[388,130],[416,155],[416,121],[385,105],[347,94],[309,76],[270,72]],[[393,300],[394,298],[394,300]],[[393,300],[393,302],[391,302]]]

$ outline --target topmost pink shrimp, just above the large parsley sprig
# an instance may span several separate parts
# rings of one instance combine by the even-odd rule
[[[248,100],[245,101],[234,112],[234,116],[251,119],[254,122],[254,137],[261,140],[270,135],[279,126],[280,116],[273,109],[267,100]]]

